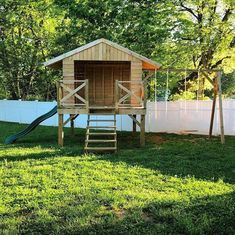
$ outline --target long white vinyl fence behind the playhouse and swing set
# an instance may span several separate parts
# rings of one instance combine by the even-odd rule
[[[31,123],[55,105],[56,102],[0,100],[0,121]],[[211,106],[212,101],[148,102],[146,132],[208,134]],[[235,135],[235,100],[223,100],[223,114],[225,134]],[[87,115],[80,115],[75,121],[75,126],[85,128],[86,121]],[[58,115],[42,123],[46,126],[57,126],[57,124]],[[126,115],[118,115],[117,128],[132,130],[132,120]],[[217,102],[213,134],[219,133]]]

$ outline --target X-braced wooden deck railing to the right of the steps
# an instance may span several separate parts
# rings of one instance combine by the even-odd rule
[[[118,81],[115,84],[116,109],[145,108],[144,81]]]

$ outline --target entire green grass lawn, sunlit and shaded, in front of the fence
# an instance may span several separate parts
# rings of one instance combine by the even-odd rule
[[[0,122],[0,234],[235,234],[235,137],[118,133],[117,154],[84,155],[84,130]]]

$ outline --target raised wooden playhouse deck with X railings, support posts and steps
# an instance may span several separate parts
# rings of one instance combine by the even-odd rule
[[[108,105],[106,105],[106,99],[103,95],[102,102],[95,103],[94,97],[92,97],[93,92],[89,92],[89,80],[63,80],[58,83],[58,115],[59,115],[59,129],[58,129],[58,143],[63,146],[63,127],[70,122],[72,133],[74,132],[74,120],[79,116],[79,114],[91,115],[113,115],[115,116],[115,139],[109,140],[114,143],[114,146],[100,147],[91,146],[90,144],[105,143],[106,139],[109,137],[105,131],[105,138],[101,140],[93,139],[90,133],[90,120],[87,124],[87,133],[84,150],[87,151],[103,151],[112,150],[117,151],[117,138],[116,138],[116,114],[128,115],[133,121],[133,132],[136,131],[136,125],[140,128],[140,145],[145,144],[145,114],[146,114],[146,102],[145,102],[145,92],[144,92],[144,82],[142,80],[138,81],[115,81],[113,87],[114,95],[108,97]],[[112,102],[110,102],[112,101]],[[69,114],[69,118],[64,121],[64,114]],[[137,119],[137,115],[140,115],[140,120]],[[100,120],[103,122],[104,120]],[[97,128],[97,127],[96,127]],[[107,126],[100,126],[101,129],[106,129]],[[95,133],[96,134],[96,133]],[[89,146],[88,146],[89,145]]]

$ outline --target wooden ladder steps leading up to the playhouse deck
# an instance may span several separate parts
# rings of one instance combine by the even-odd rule
[[[94,119],[94,116],[98,118]],[[117,152],[116,114],[102,114],[107,117],[106,119],[99,118],[99,116],[97,114],[88,115],[84,151],[86,153]],[[97,125],[94,125],[95,123]]]

